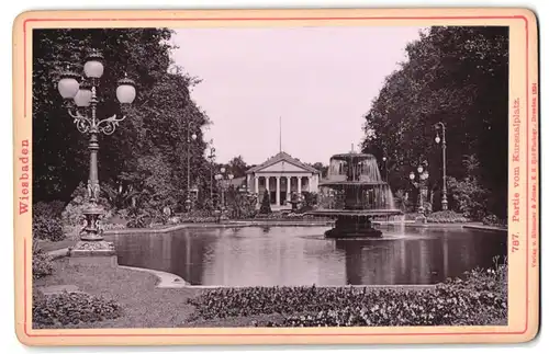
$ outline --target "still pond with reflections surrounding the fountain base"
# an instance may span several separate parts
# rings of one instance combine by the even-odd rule
[[[177,274],[192,285],[435,284],[493,265],[504,232],[383,226],[382,239],[325,239],[329,227],[181,229],[120,235],[119,264]]]

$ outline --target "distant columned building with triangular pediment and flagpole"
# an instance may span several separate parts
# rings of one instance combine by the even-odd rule
[[[257,193],[259,202],[269,191],[271,204],[285,205],[293,192],[318,192],[321,172],[281,151],[261,164],[246,171],[248,190]]]

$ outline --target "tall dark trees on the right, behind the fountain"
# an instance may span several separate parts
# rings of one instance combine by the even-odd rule
[[[362,150],[385,156],[389,183],[412,197],[408,173],[427,161],[437,210],[442,158],[435,125],[442,122],[450,208],[477,219],[486,209],[504,217],[507,144],[497,141],[507,139],[508,28],[435,26],[406,54],[365,116]],[[463,157],[478,162],[474,173]]]

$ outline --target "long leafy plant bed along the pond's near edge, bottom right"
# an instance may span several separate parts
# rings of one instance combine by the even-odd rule
[[[345,287],[223,288],[190,299],[195,318],[282,315],[258,326],[504,324],[506,265],[474,270],[432,289]]]

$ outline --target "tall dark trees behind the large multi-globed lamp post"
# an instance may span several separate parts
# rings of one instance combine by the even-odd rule
[[[187,196],[188,158],[191,183],[209,193],[201,129],[209,118],[189,94],[198,80],[170,68],[170,36],[165,28],[33,32],[35,201],[68,203],[78,184],[88,180],[88,138],[76,129],[63,109],[56,82],[69,65],[80,72],[85,50],[91,47],[100,48],[105,61],[98,89],[100,118],[121,114],[115,89],[124,73],[137,89],[127,118],[113,135],[100,136],[99,176],[107,202],[115,209],[180,208]],[[189,134],[198,136],[190,145]]]

